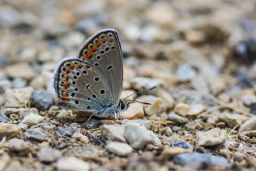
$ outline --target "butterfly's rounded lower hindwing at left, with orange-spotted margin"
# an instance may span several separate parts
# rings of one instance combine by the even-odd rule
[[[96,112],[106,102],[106,82],[90,63],[64,58],[54,74],[54,89],[61,105],[80,111]]]

